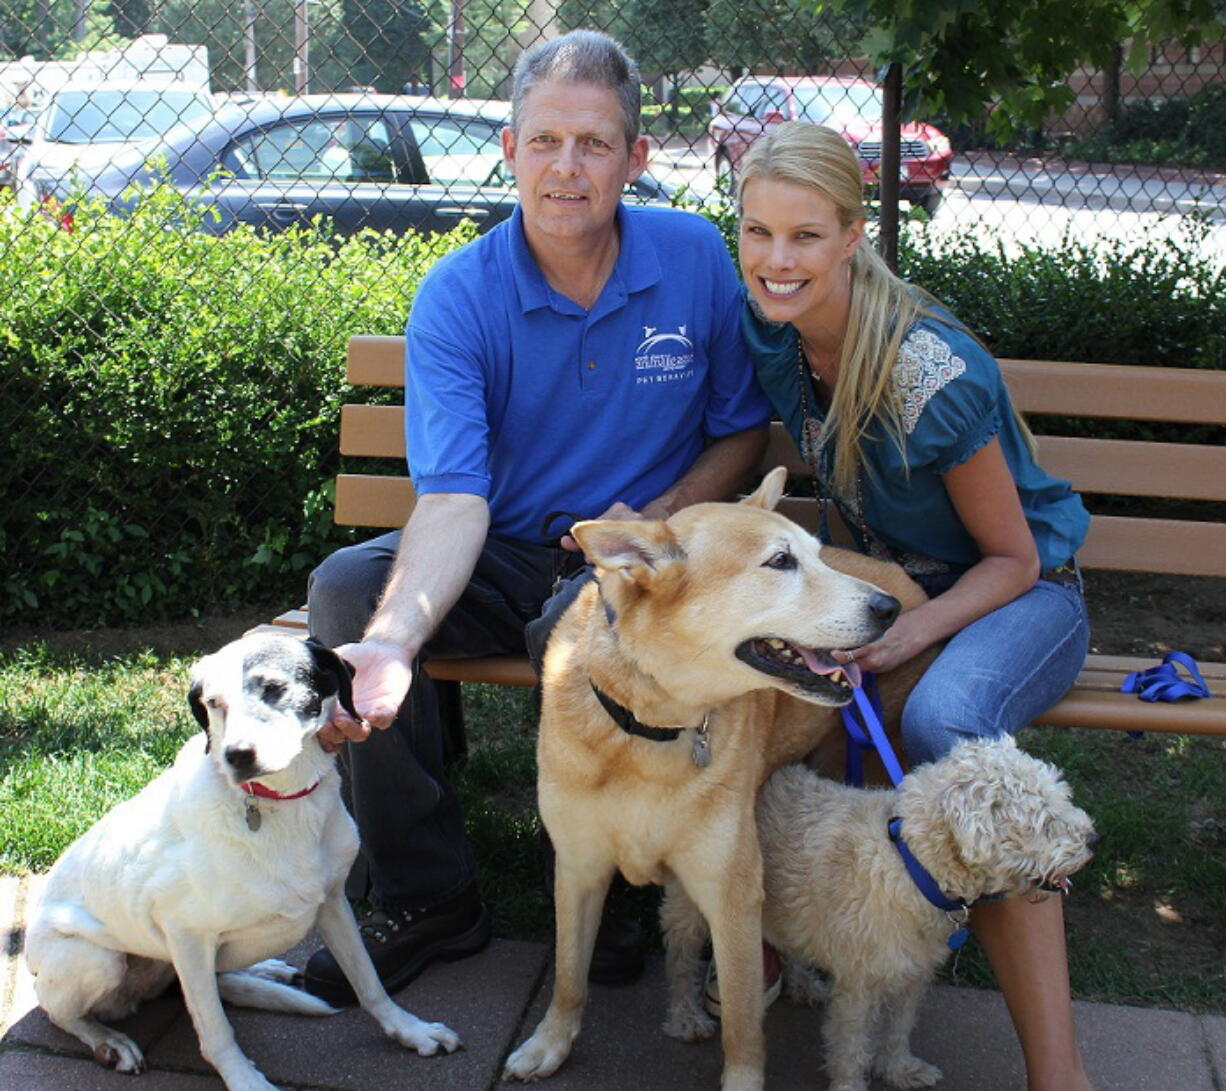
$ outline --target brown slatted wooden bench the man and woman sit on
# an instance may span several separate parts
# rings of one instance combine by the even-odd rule
[[[1226,371],[1113,364],[1002,360],[1014,402],[1034,420],[1038,416],[1089,419],[1226,425]],[[348,344],[348,379],[354,386],[402,387],[403,341],[358,336]],[[1058,423],[1058,422],[1057,422]],[[1072,430],[1072,429],[1069,429]],[[1084,494],[1176,498],[1201,505],[1197,519],[1095,515],[1079,553],[1084,569],[1167,572],[1226,577],[1226,446],[1042,435],[1040,461]],[[341,454],[351,458],[394,460],[386,473],[342,473],[336,482],[336,522],[375,531],[401,527],[413,507],[413,485],[405,476],[403,407],[347,405],[341,411]],[[763,468],[785,465],[805,476],[780,424],[771,431]],[[1216,510],[1210,505],[1216,504]],[[781,509],[810,530],[817,501],[787,498]],[[271,626],[304,631],[305,609],[276,618]],[[270,626],[261,626],[270,628]],[[1177,639],[1178,634],[1172,634]],[[1226,663],[1201,663],[1214,696],[1176,704],[1148,704],[1121,694],[1129,671],[1154,660],[1096,656],[1086,661],[1073,690],[1037,722],[1226,736]],[[532,685],[536,675],[521,656],[429,661],[440,680]]]

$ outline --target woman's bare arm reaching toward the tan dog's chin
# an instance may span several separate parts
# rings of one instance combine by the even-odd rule
[[[929,645],[1011,602],[1038,579],[1038,549],[1000,441],[991,440],[944,476],[945,490],[982,559],[948,591],[902,614],[886,634],[856,648],[867,671],[889,671]]]

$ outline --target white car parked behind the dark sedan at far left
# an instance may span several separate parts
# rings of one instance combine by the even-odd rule
[[[71,189],[129,148],[157,140],[181,121],[213,113],[213,97],[194,85],[93,83],[56,91],[18,140],[13,189],[31,206]]]

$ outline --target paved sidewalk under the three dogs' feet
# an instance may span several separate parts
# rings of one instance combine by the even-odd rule
[[[0,1091],[221,1091],[200,1057],[177,998],[146,1005],[121,1024],[150,1070],[136,1082],[94,1064],[85,1048],[34,1006],[21,962],[25,913],[37,880],[0,879]],[[302,964],[310,946],[289,955]],[[462,962],[434,966],[400,994],[423,1019],[455,1028],[466,1048],[421,1058],[386,1041],[360,1011],[326,1020],[230,1009],[244,1051],[281,1087],[297,1091],[488,1091],[503,1060],[541,1016],[549,995],[544,944],[495,940]],[[663,964],[655,957],[630,988],[593,988],[584,1032],[555,1091],[715,1091],[720,1048],[664,1037]],[[1226,1019],[1177,1011],[1076,1005],[1081,1047],[1097,1091],[1226,1091]],[[776,1004],[766,1017],[771,1091],[820,1091],[819,1014]],[[1021,1058],[999,994],[944,986],[929,990],[916,1053],[945,1074],[942,1091],[1025,1086]],[[519,1086],[519,1085],[514,1085]],[[874,1091],[880,1085],[874,1084]]]

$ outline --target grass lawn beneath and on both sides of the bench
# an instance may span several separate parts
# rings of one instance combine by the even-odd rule
[[[196,729],[185,701],[192,658],[38,641],[0,651],[0,870],[48,868],[172,760]],[[465,694],[470,755],[455,783],[495,930],[543,939],[550,910],[530,695],[482,685]],[[1067,902],[1075,994],[1226,1014],[1226,739],[1051,729],[1022,738],[1065,771],[1102,836]],[[945,977],[992,984],[973,943]]]

